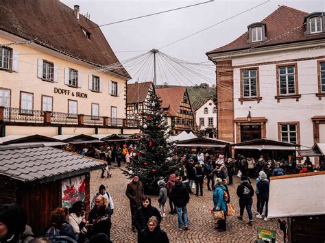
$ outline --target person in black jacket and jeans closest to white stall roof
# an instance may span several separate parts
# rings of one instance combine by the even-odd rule
[[[263,172],[260,175],[261,179],[257,183],[257,188],[260,196],[260,207],[258,209],[257,218],[263,218],[263,207],[265,205],[265,218],[264,220],[267,221],[267,212],[269,207],[269,180],[267,179],[266,174]]]

